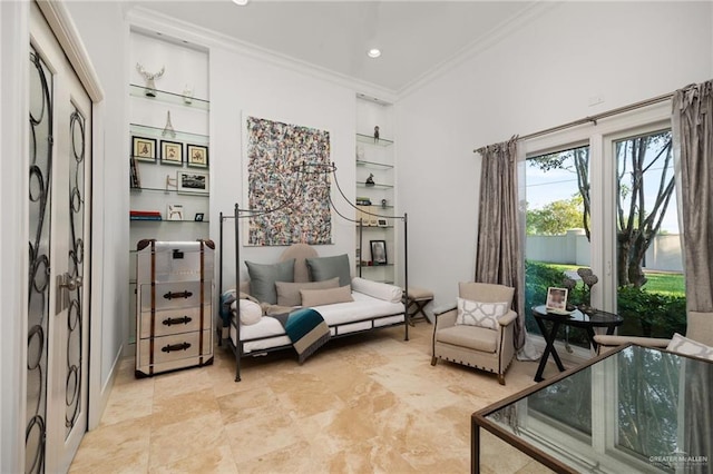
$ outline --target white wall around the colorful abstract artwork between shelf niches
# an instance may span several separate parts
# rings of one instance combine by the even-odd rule
[[[331,159],[338,167],[338,179],[346,196],[354,198],[355,92],[307,73],[261,61],[229,47],[211,49],[211,235],[218,239],[218,213],[233,214],[235,203],[246,207],[243,185],[244,116],[266,118],[328,130]],[[332,182],[332,197],[338,197]],[[342,213],[354,211],[339,206]],[[244,224],[244,223],[242,223]],[[224,226],[225,285],[235,282],[234,223]],[[338,216],[332,217],[333,245],[318,247],[322,256],[354,255],[354,227]],[[241,260],[276,261],[284,247],[245,247]],[[246,268],[242,265],[242,278]]]

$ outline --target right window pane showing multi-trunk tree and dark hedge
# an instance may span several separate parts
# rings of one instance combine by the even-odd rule
[[[614,144],[619,334],[685,334],[685,289],[671,130]]]

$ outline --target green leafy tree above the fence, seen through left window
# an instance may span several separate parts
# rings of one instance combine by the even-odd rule
[[[568,229],[580,228],[584,211],[582,196],[549,203],[541,209],[527,210],[528,235],[563,235]]]

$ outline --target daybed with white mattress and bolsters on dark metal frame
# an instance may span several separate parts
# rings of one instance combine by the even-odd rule
[[[283,314],[295,308],[295,306],[285,306],[280,304],[273,304],[272,302],[261,300],[262,314],[256,318],[251,316],[251,320],[247,320],[245,314],[241,314],[241,299],[254,298],[255,287],[262,285],[263,288],[268,287],[271,284],[276,286],[275,292],[280,296],[285,296],[285,300],[292,298],[294,302],[295,292],[299,292],[304,302],[307,303],[307,295],[310,302],[325,302],[326,304],[310,304],[306,305],[318,310],[324,318],[324,322],[330,328],[331,337],[342,337],[346,335],[353,335],[356,333],[363,333],[368,330],[379,329],[383,327],[392,327],[403,325],[404,339],[409,338],[409,325],[407,323],[407,312],[403,304],[402,289],[394,285],[371,282],[363,278],[349,276],[349,260],[346,256],[340,256],[346,263],[346,268],[341,265],[340,270],[334,269],[334,261],[339,257],[324,257],[320,258],[316,251],[306,244],[295,244],[290,246],[281,256],[279,264],[290,263],[294,260],[293,267],[293,283],[274,283],[267,278],[252,279],[252,282],[243,283],[240,285],[240,298],[235,295],[231,298],[231,312],[229,322],[224,315],[223,319],[223,343],[227,343],[231,349],[235,354],[236,372],[235,381],[241,379],[241,358],[246,356],[264,355],[268,352],[290,349],[292,348],[292,342],[285,334],[283,325],[271,315]],[[322,261],[328,261],[330,265],[325,268],[320,268]],[[253,269],[250,263],[248,270]],[[252,264],[255,266],[255,264]],[[266,267],[261,265],[260,267]],[[267,270],[274,270],[276,267],[267,268]],[[290,267],[292,268],[292,267]],[[264,268],[263,268],[264,269]],[[283,268],[284,269],[284,268]],[[276,270],[280,271],[279,269]],[[323,289],[312,289],[315,286],[322,284],[315,284],[315,282],[334,282],[339,276],[340,284],[348,282],[350,289],[345,288],[345,285],[332,285]],[[346,271],[346,275],[344,274]],[[284,274],[283,274],[284,275]],[[251,278],[255,276],[251,271]],[[280,276],[274,276],[280,280]],[[256,283],[257,282],[257,283]],[[333,289],[340,288],[340,289]],[[270,289],[270,288],[267,288]],[[335,293],[348,293],[349,302],[330,303],[330,299]],[[226,300],[226,296],[229,292],[223,294],[223,302]],[[328,295],[323,297],[324,295]],[[263,299],[258,298],[257,300]],[[266,297],[264,299],[267,299]],[[300,302],[301,303],[301,302]],[[302,305],[297,305],[300,307]]]

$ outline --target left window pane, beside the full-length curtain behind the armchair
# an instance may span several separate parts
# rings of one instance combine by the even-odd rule
[[[589,266],[589,147],[529,158],[525,179],[526,325],[539,334],[529,309],[545,304],[548,287],[560,287],[566,275],[579,279],[577,269]],[[584,297],[580,283],[578,287],[569,303]],[[558,338],[588,347],[586,334],[568,326]]]

